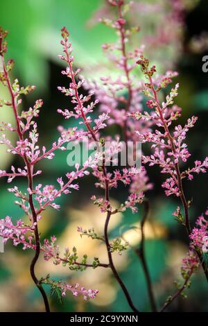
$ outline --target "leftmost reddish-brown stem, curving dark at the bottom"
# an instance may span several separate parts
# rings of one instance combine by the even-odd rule
[[[5,65],[3,55],[1,55],[1,59],[2,59],[2,63],[3,63],[3,73],[4,73],[4,77],[6,79],[8,92],[10,93],[10,96],[11,96],[12,110],[13,110],[13,113],[15,115],[15,121],[16,121],[16,124],[17,124],[17,135],[19,137],[19,140],[23,141],[24,138],[23,138],[23,135],[22,135],[22,132],[21,132],[19,117],[18,117],[18,113],[17,113],[17,102],[16,102],[16,99],[15,99],[15,94],[14,94],[14,92],[12,90],[12,85],[10,83],[10,78],[8,76],[8,71],[6,69],[6,65]],[[22,157],[23,157],[24,163],[26,164],[26,167],[27,167],[28,187],[31,190],[33,190],[33,167],[31,166],[30,162],[28,161],[28,157],[26,156],[26,153],[24,153],[24,155]],[[44,305],[45,305],[46,312],[49,312],[50,311],[49,301],[47,299],[46,293],[45,293],[44,289],[42,288],[42,285],[37,280],[37,277],[35,275],[35,264],[37,263],[37,259],[40,256],[40,237],[39,237],[38,226],[37,226],[37,214],[35,212],[35,206],[33,204],[33,194],[29,194],[28,202],[29,202],[29,205],[31,207],[31,213],[32,213],[32,216],[33,216],[33,224],[35,225],[35,229],[34,229],[35,256],[33,257],[33,260],[31,261],[31,266],[30,266],[31,277],[32,277],[33,281],[35,282],[35,285],[37,286],[37,289],[39,289],[40,293],[42,294],[42,298],[44,300]]]

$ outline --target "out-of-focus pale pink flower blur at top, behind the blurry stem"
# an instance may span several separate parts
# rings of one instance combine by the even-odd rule
[[[96,24],[98,19],[108,17],[105,24],[111,24],[114,19],[113,2],[116,1],[104,1],[103,6],[94,12],[90,23]],[[162,62],[164,69],[173,67],[182,51],[184,12],[189,12],[195,5],[196,3],[191,0],[125,1],[125,10],[130,9],[130,15],[125,19],[128,25],[126,34],[136,34],[139,30],[140,44],[145,47],[150,58]],[[132,48],[138,46],[137,34],[136,37],[132,37],[131,43]]]

